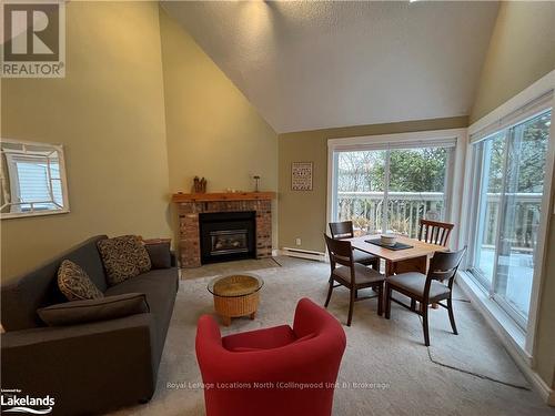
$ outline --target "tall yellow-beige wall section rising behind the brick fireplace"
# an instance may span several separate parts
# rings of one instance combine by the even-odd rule
[[[256,174],[262,190],[276,191],[275,132],[163,9],[160,29],[171,191],[190,192],[195,175],[209,192],[252,191]]]

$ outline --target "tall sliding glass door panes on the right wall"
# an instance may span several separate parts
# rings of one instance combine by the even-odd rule
[[[531,305],[551,110],[472,144],[470,270],[523,328]]]

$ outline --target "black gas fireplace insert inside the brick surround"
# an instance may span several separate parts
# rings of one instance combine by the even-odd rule
[[[199,214],[201,263],[255,258],[255,212]]]

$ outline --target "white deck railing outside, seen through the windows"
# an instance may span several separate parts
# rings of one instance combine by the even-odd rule
[[[501,194],[488,193],[485,207],[484,245],[495,244]],[[532,248],[539,222],[541,193],[514,194],[516,204],[512,245]],[[337,217],[352,220],[359,233],[381,232],[384,210],[383,192],[337,192]],[[442,192],[389,192],[387,230],[415,237],[420,219],[444,217],[445,195]]]

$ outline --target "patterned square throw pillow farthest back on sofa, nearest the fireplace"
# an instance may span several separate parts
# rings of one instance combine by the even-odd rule
[[[151,268],[149,253],[135,235],[101,240],[98,246],[111,286]]]

